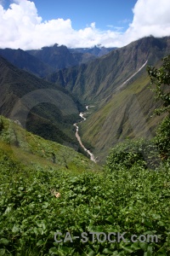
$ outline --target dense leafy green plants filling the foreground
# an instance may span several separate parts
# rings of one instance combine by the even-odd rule
[[[0,255],[167,255],[170,250],[170,167],[107,166],[74,174],[21,166],[1,152]],[[57,198],[53,191],[60,193]],[[156,242],[80,240],[56,243],[54,232],[127,232],[158,235]],[[90,238],[90,236],[89,236]]]

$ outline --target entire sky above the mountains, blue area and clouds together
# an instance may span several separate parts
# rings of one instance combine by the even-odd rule
[[[0,48],[122,47],[170,36],[170,0],[0,0]]]

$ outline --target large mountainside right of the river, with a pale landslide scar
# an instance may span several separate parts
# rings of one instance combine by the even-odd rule
[[[80,124],[80,135],[99,160],[105,160],[110,148],[126,137],[154,135],[161,118],[150,118],[156,102],[148,89],[146,66],[156,65],[169,53],[170,38],[142,38],[89,64],[48,77],[95,106]]]

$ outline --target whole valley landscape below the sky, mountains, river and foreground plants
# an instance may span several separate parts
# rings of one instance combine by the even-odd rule
[[[169,255],[169,55],[0,49],[0,255]]]

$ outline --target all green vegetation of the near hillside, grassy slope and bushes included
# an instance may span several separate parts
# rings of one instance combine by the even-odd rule
[[[167,114],[152,141],[116,145],[101,170],[73,149],[1,117],[0,255],[168,256],[169,124]],[[87,242],[75,238],[82,232]],[[100,241],[91,232],[103,232]],[[104,241],[111,232],[126,241]],[[151,235],[155,239],[144,239]]]

